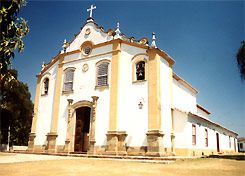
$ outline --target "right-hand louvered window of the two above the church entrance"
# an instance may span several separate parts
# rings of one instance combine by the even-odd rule
[[[101,63],[97,66],[97,86],[108,85],[108,65],[109,63]]]

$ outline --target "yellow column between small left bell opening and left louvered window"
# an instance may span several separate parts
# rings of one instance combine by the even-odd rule
[[[55,82],[55,94],[54,94],[54,103],[53,103],[53,114],[52,114],[52,125],[50,133],[47,134],[47,151],[50,153],[56,152],[56,138],[57,128],[58,128],[58,119],[59,119],[59,105],[60,105],[60,96],[61,96],[61,87],[62,87],[62,72],[63,72],[63,60],[64,57],[59,59],[58,71]]]

